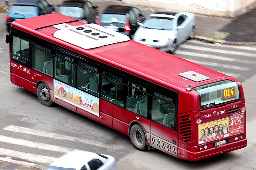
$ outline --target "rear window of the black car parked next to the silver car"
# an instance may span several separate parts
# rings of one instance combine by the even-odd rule
[[[102,14],[100,23],[122,23],[125,24],[126,15],[124,14]]]

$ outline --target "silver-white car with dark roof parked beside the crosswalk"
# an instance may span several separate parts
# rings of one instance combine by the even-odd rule
[[[156,11],[138,24],[132,40],[171,53],[187,39],[193,39],[196,31],[195,15],[189,12]]]

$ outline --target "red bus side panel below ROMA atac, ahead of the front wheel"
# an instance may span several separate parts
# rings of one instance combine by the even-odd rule
[[[29,92],[33,92],[32,82],[28,79],[22,78],[16,74],[11,73],[11,82],[12,84],[20,86],[21,88],[24,88]]]

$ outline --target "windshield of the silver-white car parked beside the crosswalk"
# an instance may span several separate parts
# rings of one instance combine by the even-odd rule
[[[173,18],[150,17],[147,20],[145,20],[143,26],[149,29],[172,30]]]

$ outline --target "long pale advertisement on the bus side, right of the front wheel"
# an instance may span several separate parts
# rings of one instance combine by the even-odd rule
[[[100,116],[99,98],[74,87],[53,80],[54,97],[79,107],[93,115]]]

